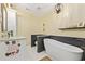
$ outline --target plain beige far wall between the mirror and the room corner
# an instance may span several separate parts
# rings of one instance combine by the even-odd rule
[[[25,36],[27,43],[31,42],[31,35],[42,34],[42,22],[30,12],[17,10],[17,35]]]

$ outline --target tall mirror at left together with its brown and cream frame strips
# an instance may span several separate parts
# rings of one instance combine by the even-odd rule
[[[16,36],[16,11],[9,8],[9,4],[1,4],[1,31],[11,33],[12,36]]]

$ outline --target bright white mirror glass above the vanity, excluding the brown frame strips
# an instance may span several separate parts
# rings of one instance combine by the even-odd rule
[[[13,36],[16,36],[16,11],[13,9],[6,9],[8,17],[8,31],[12,31]]]

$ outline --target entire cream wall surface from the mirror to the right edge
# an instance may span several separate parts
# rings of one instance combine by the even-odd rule
[[[17,35],[27,37],[30,44],[31,35],[61,35],[70,37],[85,38],[85,29],[59,30],[59,27],[75,26],[77,22],[84,21],[85,4],[63,4],[60,14],[56,14],[55,10],[48,11],[41,17],[34,16],[31,12],[18,11],[17,14]],[[43,27],[43,23],[45,26]],[[43,28],[45,30],[43,31]]]

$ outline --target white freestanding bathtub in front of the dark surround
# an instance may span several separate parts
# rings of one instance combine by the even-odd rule
[[[44,39],[46,53],[54,61],[81,61],[83,50],[54,39]]]

